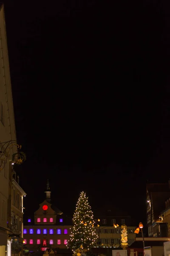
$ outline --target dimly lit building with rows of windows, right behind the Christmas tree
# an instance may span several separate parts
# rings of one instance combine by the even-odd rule
[[[114,210],[108,210],[102,215],[94,215],[96,233],[98,234],[97,246],[119,247],[121,244],[122,226],[127,227],[127,244],[135,241],[134,233],[136,226],[131,221],[130,216],[114,215]]]

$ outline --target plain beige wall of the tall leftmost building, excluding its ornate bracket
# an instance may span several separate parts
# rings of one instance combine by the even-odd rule
[[[8,48],[6,40],[6,26],[4,17],[4,7],[0,8],[0,148],[2,143],[10,140],[16,140],[14,111],[11,91],[11,80],[8,63]],[[4,151],[5,147],[2,148]],[[0,255],[4,245],[7,246],[7,221],[8,221],[8,196],[9,196],[9,173],[11,168],[12,154],[17,150],[12,147],[8,152],[9,157],[5,158],[7,163],[5,167],[0,170]],[[2,157],[1,157],[2,159]],[[1,164],[1,163],[0,163]]]

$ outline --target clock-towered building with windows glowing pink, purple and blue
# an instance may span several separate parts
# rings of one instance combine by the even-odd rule
[[[23,227],[25,246],[30,252],[45,251],[47,248],[66,248],[69,239],[71,219],[51,204],[49,182],[45,194],[45,200],[34,212],[34,219],[28,218]]]

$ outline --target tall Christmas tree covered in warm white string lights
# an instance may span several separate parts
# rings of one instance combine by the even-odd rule
[[[93,212],[84,192],[80,193],[76,210],[73,215],[74,226],[71,229],[68,247],[75,252],[81,245],[89,250],[96,242]]]

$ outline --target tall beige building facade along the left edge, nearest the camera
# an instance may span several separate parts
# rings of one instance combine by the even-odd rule
[[[4,6],[0,4],[0,256],[11,255],[8,239],[11,221],[11,175],[12,156],[17,146],[8,147],[16,141],[14,110],[6,40]]]

